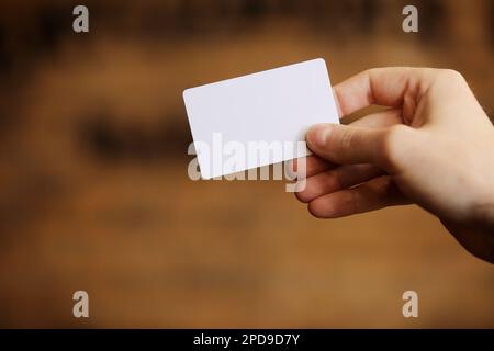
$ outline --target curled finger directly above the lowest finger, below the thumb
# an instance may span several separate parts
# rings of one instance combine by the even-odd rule
[[[372,165],[346,165],[321,172],[306,180],[304,190],[296,197],[308,203],[322,195],[347,189],[382,174],[383,171]]]

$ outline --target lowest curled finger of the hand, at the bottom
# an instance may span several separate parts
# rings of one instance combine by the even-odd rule
[[[338,218],[406,203],[391,177],[383,176],[356,188],[317,197],[311,201],[308,211],[317,218]]]

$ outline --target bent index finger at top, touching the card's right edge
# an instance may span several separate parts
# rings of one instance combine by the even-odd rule
[[[371,104],[400,107],[414,100],[431,81],[427,69],[374,68],[353,76],[333,88],[343,116]]]

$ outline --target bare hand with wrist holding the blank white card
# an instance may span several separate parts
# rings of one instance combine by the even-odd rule
[[[453,70],[379,68],[334,87],[340,115],[388,110],[306,134],[306,186],[317,218],[416,203],[472,254],[494,262],[494,128]],[[296,161],[294,162],[296,172]]]

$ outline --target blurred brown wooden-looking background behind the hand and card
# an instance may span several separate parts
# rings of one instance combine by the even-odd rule
[[[72,31],[81,3],[87,34]],[[402,31],[406,4],[419,33]],[[189,180],[181,98],[324,57],[334,83],[460,70],[491,115],[492,0],[0,9],[0,327],[494,327],[494,267],[416,206],[321,220],[284,182]],[[72,317],[78,290],[88,319]],[[407,290],[419,318],[402,315]]]

